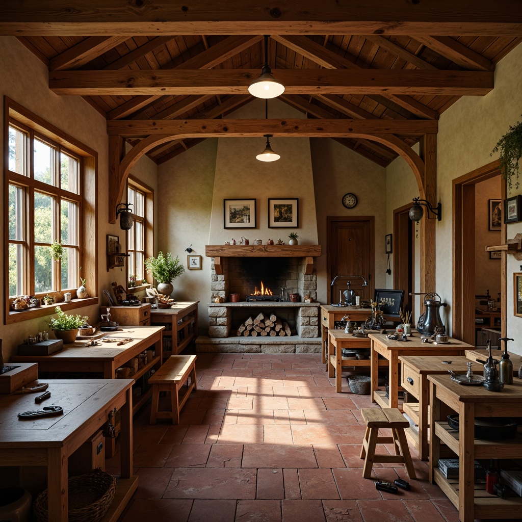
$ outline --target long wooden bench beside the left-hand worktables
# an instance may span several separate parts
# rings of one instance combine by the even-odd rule
[[[188,376],[191,377],[190,386]],[[180,398],[180,387],[184,383],[187,385],[187,390]],[[171,419],[173,424],[179,424],[181,408],[192,390],[197,389],[196,355],[171,355],[149,378],[149,384],[152,386],[150,424],[156,424],[156,419]],[[158,411],[160,392],[170,392],[171,411]]]

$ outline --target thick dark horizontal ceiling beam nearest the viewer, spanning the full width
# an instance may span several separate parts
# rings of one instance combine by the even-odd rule
[[[90,0],[4,0],[0,35],[161,34],[522,34],[518,0],[386,2],[365,0],[349,8],[337,0],[172,0],[124,3]]]

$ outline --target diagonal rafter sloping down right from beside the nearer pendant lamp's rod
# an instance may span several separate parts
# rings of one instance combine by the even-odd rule
[[[355,64],[357,58],[352,56],[353,62],[348,60],[346,57],[346,53],[344,56],[332,51],[331,49],[325,49],[322,45],[314,42],[310,38],[306,38],[303,36],[284,36],[284,37],[272,37],[278,39],[278,41],[287,45],[290,49],[295,51],[296,53],[302,54],[312,60],[313,62],[322,65],[328,69],[351,69],[351,70],[375,70],[375,69],[361,69],[358,65]],[[342,50],[341,50],[342,51]],[[325,92],[325,94],[329,94]],[[340,94],[348,94],[348,93],[340,93]],[[386,92],[380,93],[385,99],[390,100],[400,107],[406,109],[412,114],[421,117],[421,118],[431,118],[432,120],[438,119],[438,113],[429,107],[426,107],[422,103],[417,100],[412,99],[410,96],[399,97],[394,93]]]

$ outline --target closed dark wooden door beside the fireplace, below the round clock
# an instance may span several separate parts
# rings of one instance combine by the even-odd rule
[[[340,291],[347,290],[347,278],[331,281],[336,276],[362,276],[368,286],[362,285],[361,278],[350,278],[350,288],[363,300],[373,299],[375,283],[374,272],[374,218],[327,217],[327,272],[330,303],[338,303]],[[344,298],[343,298],[344,300]]]

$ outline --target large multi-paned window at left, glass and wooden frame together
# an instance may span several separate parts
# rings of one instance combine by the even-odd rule
[[[5,294],[9,323],[52,313],[29,310],[23,318],[16,313],[10,317],[12,301],[21,295],[56,294],[60,302],[62,292],[70,291],[75,298],[80,278],[87,277],[91,278],[91,295],[97,294],[97,245],[92,234],[96,230],[96,196],[84,198],[86,188],[96,193],[92,191],[96,155],[8,98],[5,106]],[[86,207],[88,211],[82,215]],[[82,240],[86,237],[87,244]],[[61,245],[60,259],[53,258],[53,244]],[[82,301],[86,304],[90,303]]]

